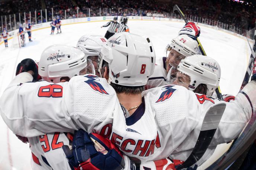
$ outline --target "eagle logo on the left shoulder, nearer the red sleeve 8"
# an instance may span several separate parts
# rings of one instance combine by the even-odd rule
[[[103,88],[103,86],[98,82],[98,81],[99,81],[98,76],[90,75],[90,74],[89,74],[89,75],[86,75],[86,76],[84,76],[84,77],[88,78],[88,80],[86,80],[86,81],[84,81],[84,82],[86,82],[87,84],[89,84],[89,86],[90,86],[93,90],[99,92],[100,94],[108,94],[108,93],[106,92],[106,90]]]

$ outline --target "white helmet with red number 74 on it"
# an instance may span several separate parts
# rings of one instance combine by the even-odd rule
[[[172,42],[166,46],[166,55],[171,49],[187,57],[198,54],[198,43],[188,35],[183,34],[172,39]]]

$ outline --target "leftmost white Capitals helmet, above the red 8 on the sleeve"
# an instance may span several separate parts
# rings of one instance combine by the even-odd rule
[[[67,45],[52,45],[42,52],[38,73],[45,81],[58,83],[62,77],[86,74],[87,69],[94,70],[94,67],[87,68],[87,60],[81,50]]]

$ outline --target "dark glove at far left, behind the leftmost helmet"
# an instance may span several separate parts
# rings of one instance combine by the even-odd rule
[[[22,60],[16,68],[16,75],[22,72],[29,72],[33,76],[33,81],[38,81],[41,76],[38,74],[38,65],[30,58]]]

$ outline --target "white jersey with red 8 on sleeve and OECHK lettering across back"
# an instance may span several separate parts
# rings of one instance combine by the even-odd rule
[[[75,76],[58,84],[28,82],[31,80],[29,73],[20,73],[0,99],[1,116],[15,134],[35,137],[82,128],[109,137],[137,163],[167,157],[186,160],[195,146],[207,109],[223,102],[182,86],[167,85],[144,91],[143,104],[126,118],[125,109],[106,79]],[[244,89],[255,94],[256,82],[249,85],[253,88]],[[211,143],[213,150],[241,133],[252,116],[251,104],[255,109],[256,98],[249,99],[239,93],[234,101],[226,103]]]

